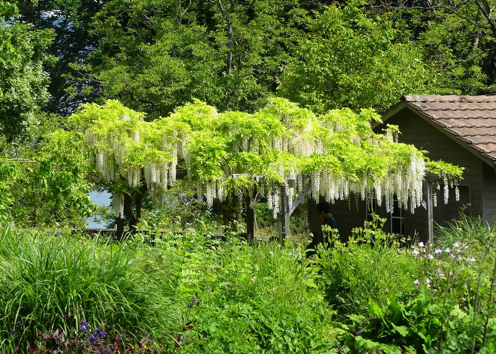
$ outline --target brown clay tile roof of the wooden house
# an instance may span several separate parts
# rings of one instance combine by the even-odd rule
[[[496,96],[401,96],[443,130],[496,161]]]

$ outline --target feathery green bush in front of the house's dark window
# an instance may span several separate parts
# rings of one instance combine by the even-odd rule
[[[318,281],[340,315],[366,313],[369,298],[380,306],[391,293],[410,298],[417,289],[415,279],[426,271],[395,236],[381,231],[380,222],[355,229],[346,245],[334,235],[333,247],[318,253]]]

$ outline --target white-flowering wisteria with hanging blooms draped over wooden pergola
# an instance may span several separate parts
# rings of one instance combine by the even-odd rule
[[[195,101],[168,117],[144,118],[113,100],[86,104],[71,116],[71,129],[84,137],[94,182],[114,194],[119,234],[124,221],[135,229],[144,193],[160,203],[178,170],[186,171],[190,188],[209,206],[228,195],[244,200],[257,188],[276,215],[281,187],[292,200],[309,176],[313,198],[364,199],[373,192],[379,204],[385,197],[388,210],[393,195],[403,208],[415,209],[422,201],[425,166],[432,165],[413,145],[395,142],[394,127],[375,134],[370,123],[379,117],[372,110],[317,116],[277,98],[254,114],[219,113]],[[433,166],[455,184],[461,176],[449,164]],[[288,178],[297,179],[296,186]]]

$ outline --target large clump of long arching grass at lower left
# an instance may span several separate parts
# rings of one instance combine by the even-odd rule
[[[133,242],[1,229],[2,353],[39,332],[74,333],[82,321],[160,335],[171,321],[170,294],[146,264]]]

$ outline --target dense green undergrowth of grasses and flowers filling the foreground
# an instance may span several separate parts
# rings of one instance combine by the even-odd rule
[[[493,353],[495,237],[463,219],[427,245],[376,219],[310,260],[192,229],[151,246],[4,228],[0,352]]]

